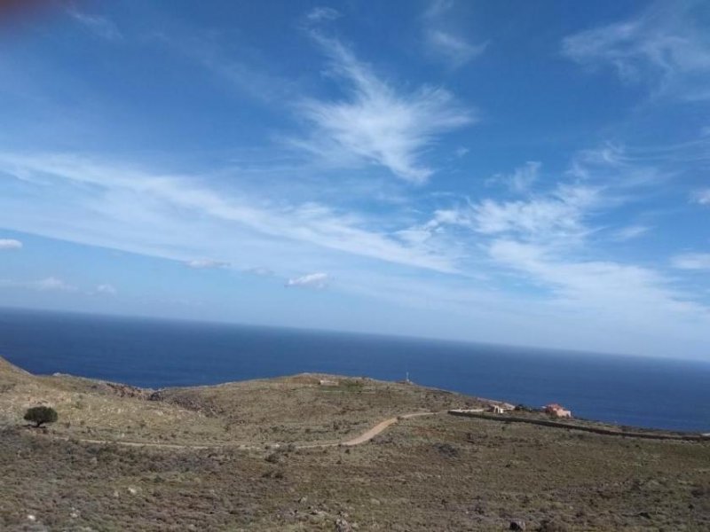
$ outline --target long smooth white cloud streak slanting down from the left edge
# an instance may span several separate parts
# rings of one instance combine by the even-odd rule
[[[225,259],[237,268],[247,267],[246,246],[272,263],[282,261],[287,251],[301,254],[298,250],[304,246],[314,246],[313,254],[330,250],[423,269],[455,270],[446,254],[404,246],[387,232],[369,229],[367,218],[317,203],[277,202],[239,188],[212,190],[198,184],[198,176],[163,175],[121,163],[42,153],[0,153],[0,169],[7,176],[18,169],[43,176],[45,184],[36,185],[37,204],[46,207],[42,215],[30,215],[21,200],[10,196],[0,196],[0,209],[8,220],[12,215],[16,227],[51,238],[182,262],[193,261],[195,255],[229,253]],[[76,184],[91,186],[79,190]],[[70,200],[57,203],[54,194],[67,187]],[[188,221],[181,214],[185,212],[195,215]],[[235,239],[245,246],[242,253],[234,251]]]

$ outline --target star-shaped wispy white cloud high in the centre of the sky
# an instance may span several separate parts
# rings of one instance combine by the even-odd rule
[[[339,41],[311,35],[331,59],[332,73],[346,83],[349,98],[305,100],[301,112],[317,130],[294,145],[329,160],[374,162],[412,183],[426,181],[434,170],[420,162],[422,152],[438,135],[471,123],[472,113],[441,88],[398,92]]]

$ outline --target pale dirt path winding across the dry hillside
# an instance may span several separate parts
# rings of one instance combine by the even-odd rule
[[[377,425],[373,426],[372,428],[368,429],[366,432],[363,434],[360,434],[359,436],[352,438],[351,440],[347,440],[345,442],[319,442],[319,443],[304,443],[302,445],[296,445],[296,449],[320,449],[320,448],[325,448],[325,447],[337,447],[339,445],[344,445],[346,447],[353,447],[355,445],[361,445],[362,443],[369,442],[372,440],[377,434],[381,434],[384,430],[386,430],[389,426],[394,425],[397,423],[400,419],[412,419],[412,418],[419,418],[421,416],[433,416],[437,413],[442,413],[442,412],[412,412],[409,414],[402,414],[400,416],[397,416],[396,418],[390,418],[390,419],[385,419],[384,421],[380,421]],[[54,436],[55,438],[59,440],[65,440],[69,441],[71,438],[68,436]],[[237,442],[223,442],[223,443],[215,443],[214,445],[201,445],[201,444],[184,444],[184,443],[162,443],[162,442],[121,442],[121,441],[115,441],[115,440],[92,440],[92,439],[87,439],[87,438],[75,438],[76,441],[82,442],[82,443],[95,443],[95,444],[109,444],[113,443],[114,445],[122,445],[123,447],[154,447],[158,449],[191,449],[191,450],[205,450],[205,449],[215,449],[219,447],[234,447],[240,450],[262,450],[264,448],[272,448],[272,449],[278,449],[280,446],[283,446],[284,443],[261,443],[258,445],[246,445],[244,443],[237,443]]]

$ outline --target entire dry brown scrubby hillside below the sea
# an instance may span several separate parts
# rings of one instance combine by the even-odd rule
[[[710,529],[710,442],[446,414],[484,403],[314,374],[144,390],[0,359],[0,529]],[[36,404],[59,412],[46,431],[21,419]]]

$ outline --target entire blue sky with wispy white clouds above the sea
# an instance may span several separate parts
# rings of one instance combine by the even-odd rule
[[[0,13],[0,306],[710,360],[710,4]]]

